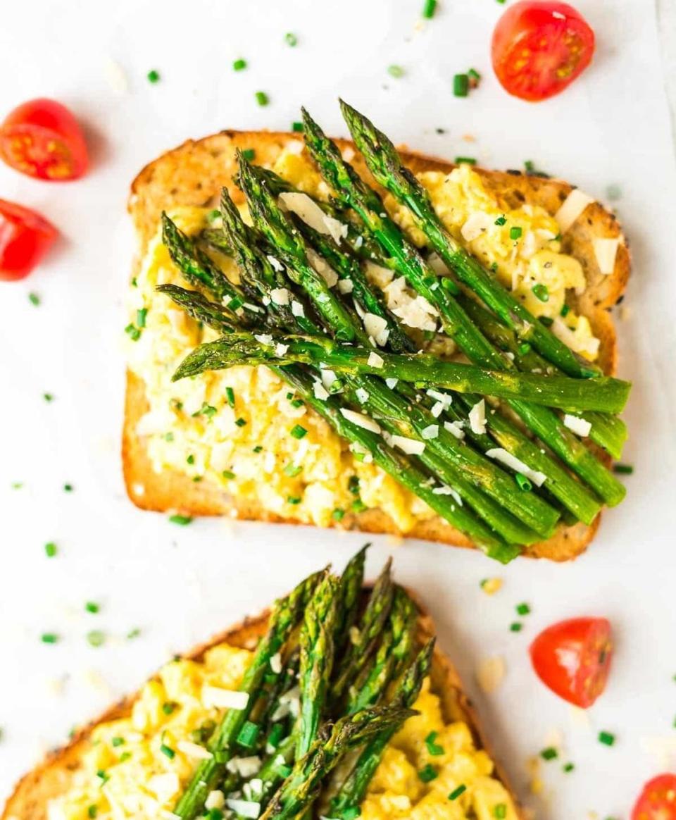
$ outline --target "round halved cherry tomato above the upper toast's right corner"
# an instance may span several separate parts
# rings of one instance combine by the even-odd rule
[[[531,102],[560,93],[592,62],[594,32],[565,2],[521,0],[493,32],[493,70],[510,94]]]

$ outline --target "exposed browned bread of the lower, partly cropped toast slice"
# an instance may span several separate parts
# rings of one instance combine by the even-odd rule
[[[407,591],[411,594],[411,590]],[[411,594],[411,597],[415,600],[419,610],[418,640],[420,645],[423,645],[436,634],[436,630],[432,618],[415,599],[415,594]],[[184,657],[199,661],[207,649],[211,649],[212,646],[220,643],[228,643],[241,649],[252,649],[261,635],[265,633],[268,617],[268,610],[256,617],[247,617],[243,622],[220,635],[216,635],[208,643],[197,646],[196,649],[193,649]],[[434,648],[430,679],[433,692],[441,698],[445,721],[465,722],[470,727],[476,748],[485,749],[495,762],[483,729],[479,726],[476,710],[463,690],[460,677],[450,659],[442,653],[438,646]],[[129,697],[121,700],[120,703],[115,704],[103,713],[97,721],[93,721],[77,731],[68,745],[50,752],[42,763],[39,763],[32,772],[26,774],[16,784],[14,792],[7,799],[0,820],[47,820],[48,801],[63,795],[69,789],[75,773],[78,771],[82,754],[88,746],[93,727],[96,727],[99,723],[127,717],[136,698],[137,695],[129,695]],[[519,818],[523,818],[521,809],[519,809],[519,802],[510,788],[505,772],[497,762],[495,765],[496,777],[509,791]]]

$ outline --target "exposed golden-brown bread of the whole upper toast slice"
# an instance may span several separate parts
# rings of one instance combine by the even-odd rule
[[[157,232],[163,210],[184,205],[211,206],[217,203],[220,189],[224,186],[236,203],[243,202],[243,194],[233,182],[237,171],[235,152],[238,148],[253,148],[256,152],[256,164],[272,166],[293,139],[293,134],[223,131],[197,141],[188,140],[147,165],[134,180],[129,198],[129,212],[138,233],[141,255],[148,241]],[[338,139],[336,142],[342,150],[353,149],[352,143],[347,140]],[[404,152],[402,157],[414,172],[449,172],[454,167],[449,162],[415,153]],[[356,152],[352,164],[365,180],[374,184]],[[574,189],[574,186],[560,180],[547,180],[517,172],[478,171],[488,190],[497,194],[510,207],[530,203],[544,207],[552,215]],[[624,293],[630,258],[623,239],[615,258],[615,270],[610,275],[602,274],[593,244],[594,239],[601,237],[622,238],[622,233],[615,215],[600,203],[594,202],[566,232],[564,251],[576,257],[583,266],[588,287],[583,294],[573,298],[574,307],[588,317],[593,334],[600,339],[598,363],[611,375],[615,374],[617,344],[610,308]],[[270,514],[257,503],[233,497],[220,486],[208,481],[196,484],[189,476],[178,471],[154,471],[143,438],[136,432],[138,421],[146,411],[143,382],[128,372],[122,459],[127,492],[138,507],[158,512],[179,511],[186,515],[227,514],[248,520],[298,523],[293,518],[280,518]],[[595,449],[595,452],[604,461],[610,461],[606,453],[599,449]],[[592,540],[598,524],[599,517],[591,526],[582,523],[560,526],[549,540],[530,545],[524,550],[524,554],[554,561],[574,558]],[[350,513],[339,525],[333,526],[399,534],[392,519],[379,509],[369,509],[358,515]],[[466,535],[439,518],[419,522],[406,535],[455,546],[473,546]]]

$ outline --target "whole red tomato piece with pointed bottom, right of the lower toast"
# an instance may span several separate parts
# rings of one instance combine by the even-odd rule
[[[613,646],[605,617],[574,617],[548,626],[530,645],[538,677],[571,704],[588,708],[606,688]]]

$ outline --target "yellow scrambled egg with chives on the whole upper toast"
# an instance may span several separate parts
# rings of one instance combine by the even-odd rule
[[[304,156],[284,152],[274,170],[308,194],[328,194]],[[588,321],[569,313],[564,324],[559,317],[566,290],[583,288],[584,277],[579,263],[560,253],[555,239],[558,227],[551,216],[527,205],[502,211],[470,166],[460,166],[450,175],[426,173],[420,179],[453,235],[488,266],[497,262],[497,276],[536,315],[556,317],[555,330],[564,327],[570,337],[567,344],[593,351],[598,343]],[[408,213],[390,198],[387,207],[412,238],[424,244]],[[195,234],[208,224],[208,214],[204,208],[181,208],[171,216],[182,230]],[[475,226],[478,233],[467,240],[463,230],[465,235],[473,233],[468,234],[464,226],[476,221],[477,214],[483,214],[479,217],[483,230]],[[505,224],[496,225],[502,216]],[[510,228],[515,226],[522,230],[519,240],[510,239]],[[227,276],[238,279],[234,262],[220,257],[219,263]],[[266,367],[233,367],[172,383],[171,376],[187,353],[200,342],[215,339],[216,333],[198,326],[168,297],[157,294],[156,286],[166,282],[185,285],[158,234],[129,289],[126,340],[129,367],[145,383],[149,404],[138,423],[138,435],[147,441],[157,472],[171,469],[193,481],[217,482],[268,512],[319,526],[340,522],[364,505],[382,509],[402,533],[433,517],[429,507],[397,481],[356,458],[347,443],[323,419],[308,412]],[[547,285],[547,302],[533,295],[532,285],[538,282]],[[388,298],[396,297],[397,281],[390,287]],[[443,344],[438,349],[446,352]],[[302,438],[292,433],[297,426],[306,431]],[[143,492],[143,488],[136,490]]]

